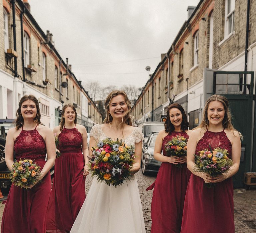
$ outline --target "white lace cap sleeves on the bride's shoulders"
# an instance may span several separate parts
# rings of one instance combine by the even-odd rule
[[[96,142],[102,141],[108,136],[102,131],[100,124],[95,124],[90,131],[90,136],[94,137]],[[135,143],[140,142],[141,140],[144,140],[143,133],[140,128],[134,127],[133,131],[130,135],[128,135],[126,138],[124,138],[124,141],[128,145],[135,145]]]

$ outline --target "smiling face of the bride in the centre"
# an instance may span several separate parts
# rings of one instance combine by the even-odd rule
[[[122,118],[127,111],[128,108],[123,95],[111,99],[108,112],[113,118]]]

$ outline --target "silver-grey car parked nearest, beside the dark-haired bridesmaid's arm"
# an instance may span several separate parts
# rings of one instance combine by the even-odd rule
[[[158,133],[152,133],[148,139],[148,142],[143,143],[141,166],[142,174],[146,175],[148,172],[158,172],[162,162],[154,159],[154,147],[156,136]]]

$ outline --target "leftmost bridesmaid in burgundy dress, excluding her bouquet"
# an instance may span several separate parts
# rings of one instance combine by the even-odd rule
[[[46,213],[51,192],[50,168],[55,161],[52,130],[40,121],[38,100],[23,96],[16,113],[16,127],[9,129],[6,137],[6,165],[12,170],[16,159],[32,159],[41,166],[42,182],[28,190],[12,184],[5,204],[1,233],[46,231]],[[47,161],[45,161],[47,152]]]

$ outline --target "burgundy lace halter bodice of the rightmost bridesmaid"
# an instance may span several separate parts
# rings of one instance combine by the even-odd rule
[[[210,150],[209,143],[212,149],[216,147],[220,147],[221,149],[227,149],[229,153],[228,157],[231,158],[232,145],[226,133],[224,132],[224,130],[221,132],[211,132],[207,130],[204,133],[203,137],[197,143],[196,154],[199,150],[203,150],[203,149]]]

